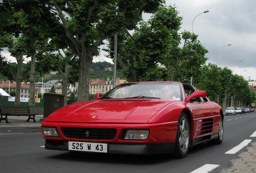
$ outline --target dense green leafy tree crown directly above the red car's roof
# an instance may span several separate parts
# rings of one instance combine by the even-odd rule
[[[196,40],[196,35],[178,33],[181,22],[175,6],[164,6],[149,21],[140,22],[134,34],[118,33],[118,68],[123,69],[129,82],[178,80],[193,73],[196,76],[207,60],[207,50]],[[180,48],[182,39],[184,46]],[[112,39],[109,49],[113,50],[113,45]]]

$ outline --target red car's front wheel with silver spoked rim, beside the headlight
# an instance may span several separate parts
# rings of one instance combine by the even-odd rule
[[[190,144],[190,123],[186,113],[180,115],[175,139],[174,155],[177,158],[186,157]]]

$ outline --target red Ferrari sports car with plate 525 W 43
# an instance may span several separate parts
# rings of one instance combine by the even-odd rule
[[[187,83],[128,82],[95,99],[48,116],[45,149],[182,158],[198,143],[223,140],[221,107]]]

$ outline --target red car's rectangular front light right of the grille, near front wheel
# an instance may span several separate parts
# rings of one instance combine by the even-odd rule
[[[144,141],[149,137],[149,129],[140,130],[140,129],[128,129],[126,133],[124,133],[124,140],[138,140]]]

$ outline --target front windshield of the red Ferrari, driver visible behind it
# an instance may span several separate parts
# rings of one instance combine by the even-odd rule
[[[180,83],[176,82],[138,82],[126,83],[112,89],[100,99],[175,99],[182,100]]]

